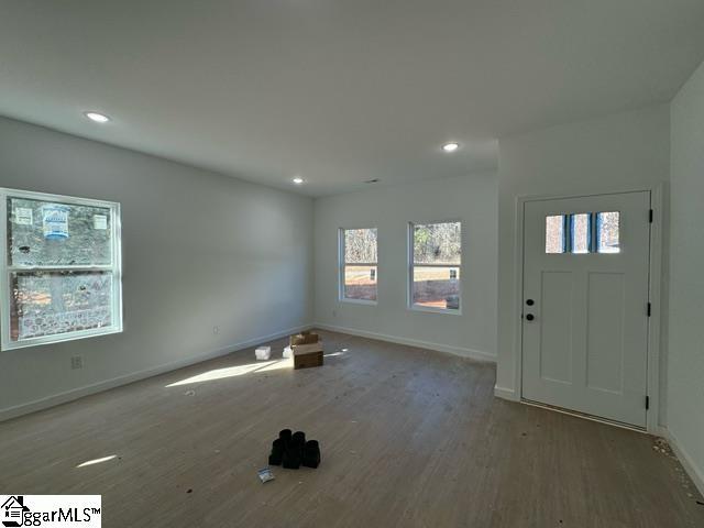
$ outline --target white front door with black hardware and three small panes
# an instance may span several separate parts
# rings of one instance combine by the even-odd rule
[[[646,427],[650,193],[526,201],[522,398]]]

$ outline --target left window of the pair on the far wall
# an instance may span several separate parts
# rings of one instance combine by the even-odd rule
[[[340,299],[376,302],[376,229],[340,230]]]

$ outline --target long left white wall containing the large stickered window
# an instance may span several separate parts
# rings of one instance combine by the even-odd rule
[[[123,333],[0,352],[0,417],[311,321],[309,198],[7,119],[0,187],[119,201],[124,274]]]

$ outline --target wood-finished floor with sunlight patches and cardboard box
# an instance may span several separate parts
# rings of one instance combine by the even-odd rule
[[[495,399],[490,364],[321,334],[322,369],[242,351],[0,424],[0,492],[101,494],[120,528],[704,526],[652,437]],[[227,377],[167,387],[204,373]],[[285,427],[322,464],[261,484]]]

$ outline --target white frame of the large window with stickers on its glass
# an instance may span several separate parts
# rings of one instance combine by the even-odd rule
[[[10,265],[8,252],[8,199],[24,198],[30,200],[65,204],[69,206],[100,207],[110,210],[111,241],[112,241],[112,263],[106,265],[42,265],[42,266],[15,266]],[[120,216],[120,204],[114,201],[96,200],[91,198],[79,198],[74,196],[54,195],[48,193],[35,193],[30,190],[19,190],[0,187],[0,352],[8,352],[28,346],[61,343],[75,341],[77,339],[108,336],[123,331],[122,315],[122,226]],[[10,336],[10,275],[16,272],[110,272],[112,273],[112,302],[111,302],[111,324],[108,327],[77,330],[53,336],[41,336],[21,341],[12,341]]]

